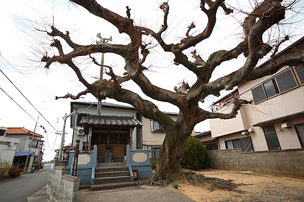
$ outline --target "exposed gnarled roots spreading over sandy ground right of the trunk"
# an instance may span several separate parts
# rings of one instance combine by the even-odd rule
[[[238,186],[241,185],[249,185],[249,184],[243,184],[243,183],[234,183],[234,180],[223,180],[216,177],[206,177],[201,173],[195,173],[192,171],[184,171],[184,174],[189,181],[189,183],[193,184],[194,186],[201,186],[205,187],[210,191],[214,190],[214,188],[219,189],[227,189],[230,191],[236,191],[238,193],[243,193],[244,191],[238,190]]]

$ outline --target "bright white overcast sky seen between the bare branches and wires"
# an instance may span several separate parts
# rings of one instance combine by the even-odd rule
[[[103,7],[108,8],[122,16],[126,16],[126,6],[131,8],[131,18],[136,25],[146,26],[155,31],[159,30],[163,21],[163,12],[158,8],[161,1],[98,1]],[[241,40],[242,29],[240,22],[244,20],[245,15],[238,12],[240,7],[244,11],[251,11],[252,5],[248,1],[226,1],[235,8],[233,15],[225,16],[221,9],[218,12],[218,22],[212,33],[212,36],[196,48],[198,53],[207,59],[214,51],[219,49],[231,49]],[[299,1],[301,5],[303,1]],[[165,32],[166,43],[176,43],[185,36],[187,26],[192,22],[196,28],[191,34],[198,34],[204,30],[206,25],[206,16],[200,11],[199,1],[169,1],[170,12],[168,17],[169,28]],[[300,11],[299,7],[299,11]],[[291,40],[285,45],[297,40],[303,35],[303,23],[297,22],[304,19],[300,13],[298,15],[287,12],[287,22],[296,22],[286,25],[284,34],[288,34]],[[291,17],[291,18],[290,18]],[[54,149],[59,148],[61,135],[55,132],[62,131],[64,113],[70,113],[70,99],[55,100],[55,96],[63,96],[66,93],[77,94],[84,90],[84,86],[78,81],[72,70],[62,65],[52,65],[46,70],[41,64],[40,57],[48,52],[52,57],[56,54],[49,44],[51,38],[43,33],[37,33],[33,27],[39,27],[42,30],[48,29],[49,25],[54,24],[61,31],[68,30],[74,42],[80,44],[95,43],[96,34],[101,33],[103,37],[112,36],[112,43],[126,44],[129,38],[125,34],[119,34],[118,30],[106,21],[93,16],[81,7],[75,7],[68,1],[6,1],[0,0],[0,69],[4,74],[18,87],[18,89],[27,97],[30,103],[46,118],[27,102],[27,100],[18,92],[12,83],[0,72],[0,87],[20,105],[26,113],[18,107],[16,103],[0,89],[0,126],[3,127],[25,127],[33,131],[35,120],[39,117],[39,126],[37,133],[42,134],[46,141],[45,160],[51,160],[54,157]],[[282,32],[282,30],[281,30]],[[281,36],[283,36],[282,33]],[[275,35],[277,32],[271,33]],[[267,38],[267,36],[265,36]],[[147,42],[153,45],[155,41],[146,38]],[[65,53],[70,49],[66,46]],[[185,53],[189,53],[185,52]],[[150,56],[144,64],[148,68],[145,75],[150,81],[162,88],[173,90],[174,86],[183,80],[190,85],[194,84],[196,77],[192,72],[187,71],[182,66],[173,64],[173,55],[164,53],[156,46],[150,50]],[[99,61],[100,54],[94,57]],[[242,66],[244,57],[240,56],[237,60],[224,63],[221,67],[215,69],[212,80],[237,70]],[[261,61],[262,62],[262,61]],[[94,77],[99,76],[99,68],[92,65],[87,58],[77,60],[84,76],[89,82],[94,81]],[[105,54],[105,65],[113,66],[117,74],[124,72],[124,60],[114,54]],[[124,88],[131,89],[139,93],[142,98],[145,96],[133,82],[124,84]],[[222,92],[223,94],[227,92]],[[208,106],[216,100],[215,96],[208,96],[204,104],[200,107],[208,110]],[[84,96],[83,101],[96,102],[92,95]],[[150,99],[151,100],[151,99]],[[118,103],[112,99],[106,99],[106,102]],[[175,106],[154,101],[160,110],[169,112],[178,112]],[[124,104],[127,105],[127,104]],[[27,114],[28,113],[28,114]],[[55,129],[54,129],[54,128]],[[195,127],[196,131],[209,130],[209,122],[205,121]],[[71,142],[72,130],[69,127],[69,119],[66,123],[66,141]]]

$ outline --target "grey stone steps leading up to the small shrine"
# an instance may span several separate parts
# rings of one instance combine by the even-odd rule
[[[136,183],[131,181],[129,167],[124,166],[123,162],[98,163],[91,190],[116,189],[135,185]]]

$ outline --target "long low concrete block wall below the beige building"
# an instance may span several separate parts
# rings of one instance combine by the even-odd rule
[[[209,152],[209,167],[222,170],[246,170],[270,175],[304,179],[304,149],[253,151],[242,149]]]

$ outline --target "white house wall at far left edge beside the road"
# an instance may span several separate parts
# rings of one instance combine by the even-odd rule
[[[20,139],[0,136],[0,162],[13,163],[17,144]]]

